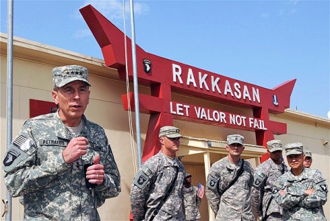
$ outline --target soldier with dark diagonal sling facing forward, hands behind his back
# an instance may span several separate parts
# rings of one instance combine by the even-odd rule
[[[241,135],[228,135],[228,156],[213,163],[208,174],[206,198],[219,221],[254,220],[250,204],[253,169],[241,159],[243,141]]]

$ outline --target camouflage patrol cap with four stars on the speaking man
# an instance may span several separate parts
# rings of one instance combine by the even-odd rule
[[[55,67],[52,71],[54,85],[59,87],[80,80],[89,86],[87,68],[78,65],[67,65],[63,67]]]

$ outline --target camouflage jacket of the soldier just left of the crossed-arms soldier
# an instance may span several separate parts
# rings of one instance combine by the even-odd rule
[[[271,213],[283,214],[282,207],[272,198],[272,190],[278,177],[287,172],[287,165],[276,165],[272,159],[261,163],[254,171],[251,202],[255,216],[270,215]],[[267,214],[266,214],[267,209]]]

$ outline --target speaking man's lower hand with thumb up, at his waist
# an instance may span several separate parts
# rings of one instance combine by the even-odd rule
[[[87,168],[86,178],[89,180],[89,183],[94,183],[100,185],[104,180],[104,166],[100,163],[100,155],[96,154],[94,158],[94,165],[91,165]]]

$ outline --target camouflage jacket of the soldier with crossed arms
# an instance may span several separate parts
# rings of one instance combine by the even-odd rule
[[[305,190],[311,188],[314,192],[307,196]],[[280,190],[286,193],[281,195]],[[273,196],[283,207],[283,220],[326,220],[322,205],[327,202],[327,191],[321,172],[305,168],[299,176],[291,171],[280,176],[274,185]]]

